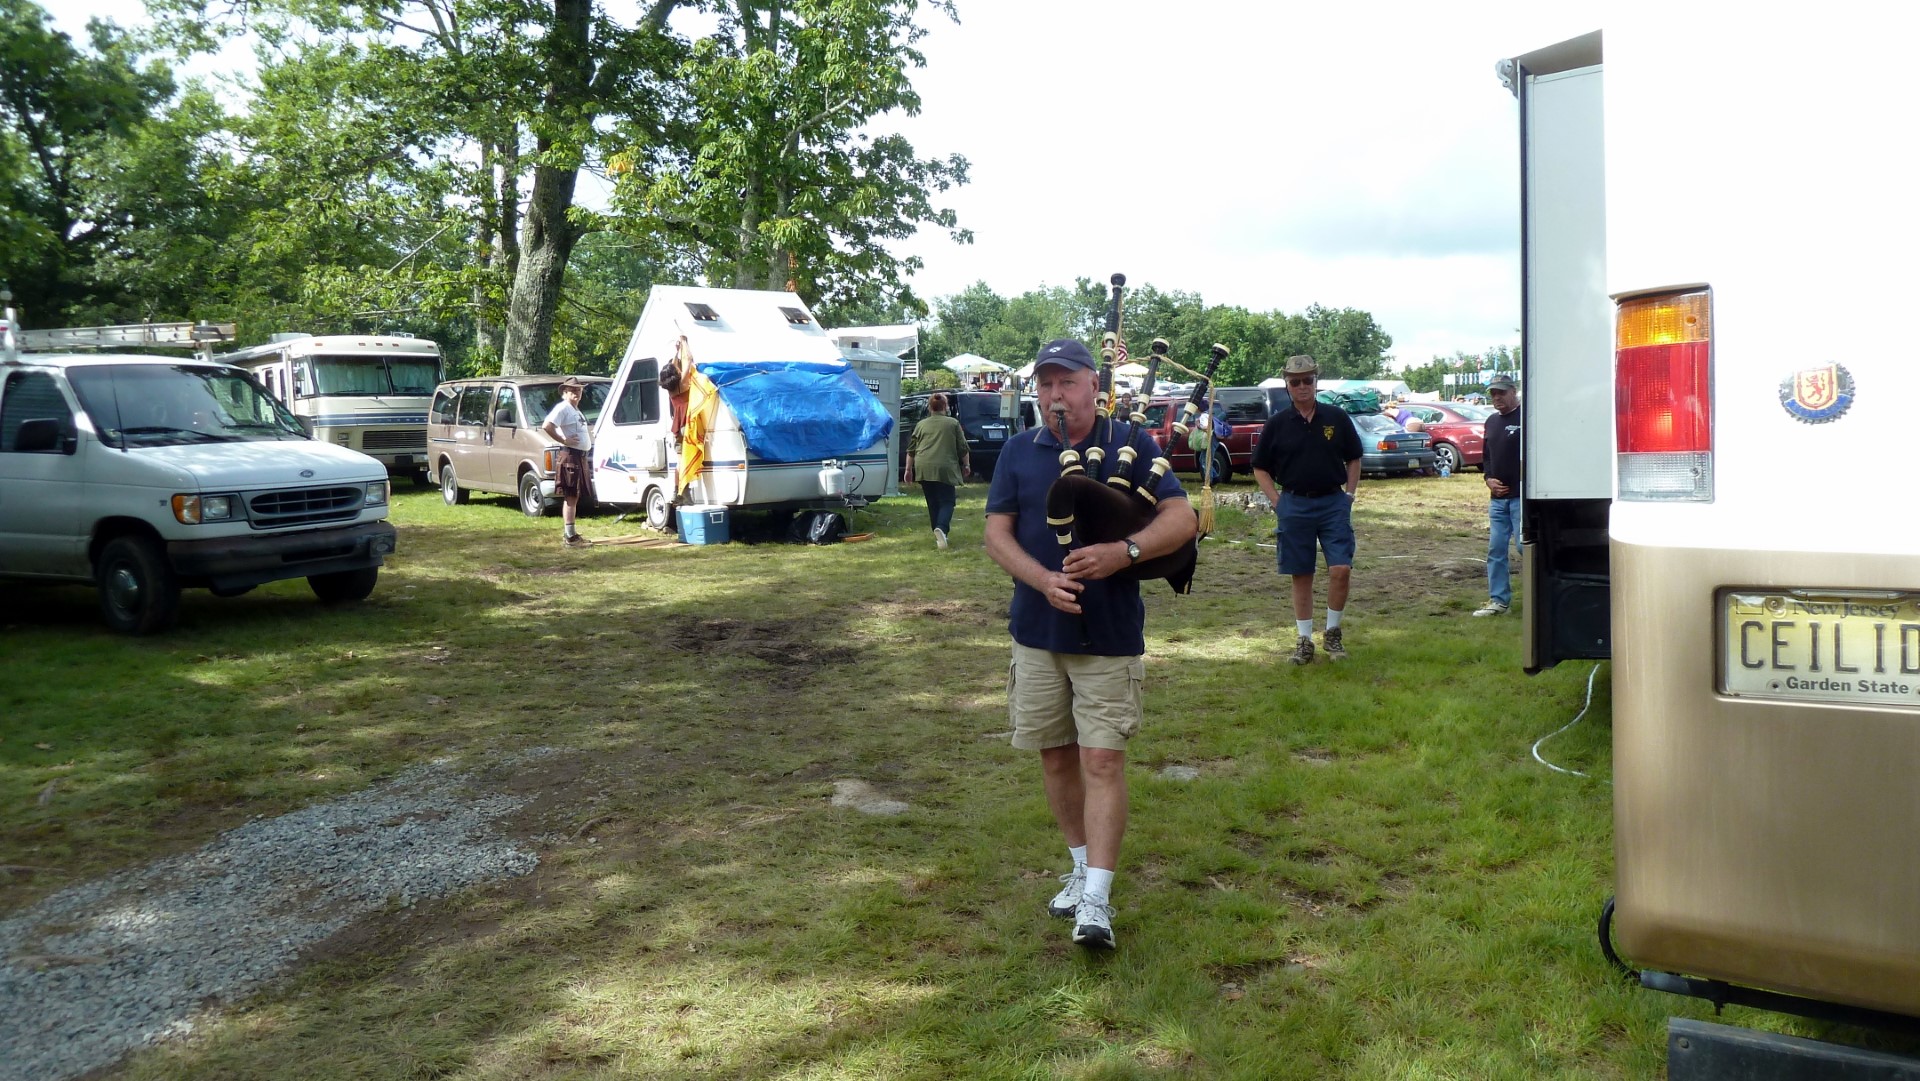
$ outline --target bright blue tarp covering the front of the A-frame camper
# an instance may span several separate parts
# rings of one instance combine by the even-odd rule
[[[893,434],[893,417],[839,361],[697,363],[766,461],[847,457]]]

